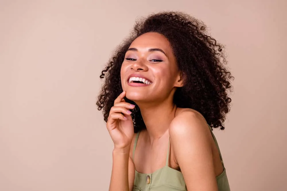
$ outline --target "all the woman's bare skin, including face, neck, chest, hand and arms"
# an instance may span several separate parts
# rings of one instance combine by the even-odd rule
[[[149,32],[133,41],[121,67],[123,92],[115,100],[106,127],[114,142],[110,191],[133,190],[135,170],[152,173],[165,165],[170,137],[168,166],[182,172],[187,190],[217,191],[216,176],[223,167],[204,117],[193,109],[177,108],[176,88],[183,79],[168,40]],[[148,86],[130,86],[128,77],[140,74],[152,81]],[[146,129],[141,131],[132,159],[134,101],[141,110]]]

